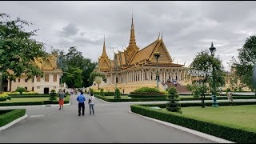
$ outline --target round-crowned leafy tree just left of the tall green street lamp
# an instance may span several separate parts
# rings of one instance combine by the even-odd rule
[[[213,77],[210,77],[210,73],[212,73],[212,67],[214,67],[214,80]],[[198,53],[194,58],[193,62],[190,64],[190,74],[194,74],[194,76],[204,77],[202,81],[203,87],[205,87],[206,82],[209,82],[210,87],[213,86],[222,86],[225,83],[224,80],[224,70],[222,66],[222,61],[219,58],[212,57],[208,50],[202,50],[202,52]],[[202,90],[205,91],[205,90]],[[212,93],[216,95],[216,91],[212,90]],[[202,107],[205,107],[205,94],[202,93]]]

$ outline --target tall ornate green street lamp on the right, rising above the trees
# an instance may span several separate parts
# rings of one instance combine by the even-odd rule
[[[214,42],[211,42],[211,46],[210,46],[209,50],[210,50],[210,54],[211,54],[211,56],[213,57],[213,60],[214,60],[214,54],[215,54],[215,51],[216,51],[216,48],[214,47]],[[212,67],[213,67],[213,90],[212,90],[212,98],[213,98],[213,100],[214,100],[213,106],[214,106],[214,107],[218,107],[218,102],[217,102],[217,98],[216,98],[214,64],[212,64]]]

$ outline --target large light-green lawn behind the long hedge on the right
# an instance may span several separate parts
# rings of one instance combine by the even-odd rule
[[[166,109],[162,109],[165,110]],[[256,105],[182,107],[182,115],[256,131]]]

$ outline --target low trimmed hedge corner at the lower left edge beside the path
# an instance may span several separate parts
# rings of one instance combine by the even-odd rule
[[[0,114],[0,126],[5,126],[6,124],[13,122],[15,119],[24,116],[26,114],[26,109],[0,110],[0,112],[2,113]]]

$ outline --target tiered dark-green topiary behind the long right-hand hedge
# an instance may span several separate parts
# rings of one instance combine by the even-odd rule
[[[180,99],[178,98],[179,94],[177,94],[178,93],[177,89],[175,87],[171,87],[168,90],[168,92],[170,95],[168,95],[167,101],[170,101],[170,102],[166,103],[166,110],[182,113],[181,104],[178,103]]]

